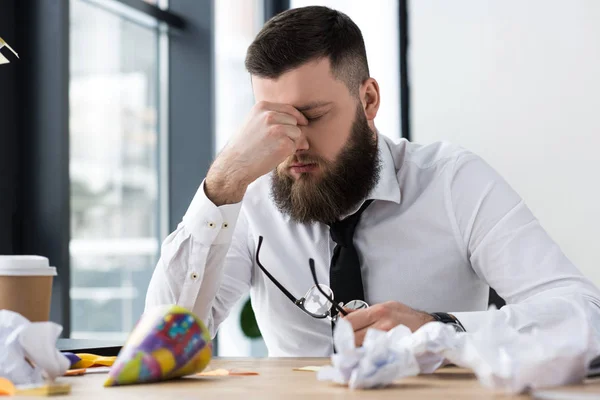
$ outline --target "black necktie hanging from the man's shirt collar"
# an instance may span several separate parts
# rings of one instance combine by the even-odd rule
[[[336,245],[329,268],[329,285],[338,304],[340,302],[346,304],[352,300],[365,300],[360,261],[354,247],[354,231],[361,214],[372,201],[365,201],[357,212],[330,226],[331,239]]]

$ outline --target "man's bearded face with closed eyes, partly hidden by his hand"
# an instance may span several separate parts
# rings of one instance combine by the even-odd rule
[[[278,79],[253,77],[256,101],[290,104],[309,120],[308,149],[272,175],[279,209],[298,222],[330,223],[363,200],[377,183],[377,137],[358,100],[331,74],[329,59],[309,62]]]

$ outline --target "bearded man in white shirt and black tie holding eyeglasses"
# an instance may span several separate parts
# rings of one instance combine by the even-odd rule
[[[256,104],[164,241],[147,308],[187,307],[215,335],[250,292],[270,356],[329,356],[340,317],[358,345],[431,321],[527,330],[569,297],[597,323],[598,289],[480,157],[379,134],[379,85],[346,15],[279,14],[246,68]]]

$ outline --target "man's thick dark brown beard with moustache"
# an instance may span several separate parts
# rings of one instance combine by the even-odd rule
[[[294,162],[317,164],[321,173],[301,173],[294,179],[286,173]],[[379,181],[380,169],[377,136],[359,104],[350,137],[336,160],[295,154],[273,171],[271,197],[295,222],[331,224],[366,199]]]

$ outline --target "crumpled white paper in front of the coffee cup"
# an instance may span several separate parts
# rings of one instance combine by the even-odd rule
[[[24,385],[64,375],[70,362],[56,348],[61,332],[62,327],[53,322],[30,322],[18,313],[0,310],[0,376]]]

